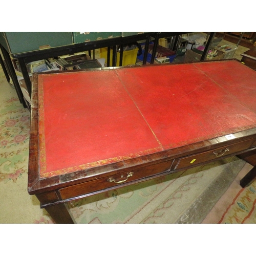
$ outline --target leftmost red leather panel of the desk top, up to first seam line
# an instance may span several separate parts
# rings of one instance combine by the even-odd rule
[[[115,71],[45,75],[38,90],[42,177],[162,149]]]

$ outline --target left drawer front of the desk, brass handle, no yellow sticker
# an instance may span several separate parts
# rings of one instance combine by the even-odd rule
[[[152,175],[157,175],[162,172],[165,172],[166,170],[170,169],[172,162],[173,160],[169,160],[166,162],[161,162],[150,166],[138,167],[134,169],[131,168],[129,171],[120,174],[110,174],[110,176],[108,177],[61,188],[59,189],[59,193],[62,199],[68,199],[72,197],[93,193],[95,191],[99,191],[105,188],[114,188],[115,186],[121,184],[125,185],[125,183],[127,182],[135,181],[138,179],[146,178]]]

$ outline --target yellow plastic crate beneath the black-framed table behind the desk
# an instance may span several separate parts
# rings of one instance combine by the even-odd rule
[[[136,64],[136,59],[138,55],[138,48],[136,47],[133,50],[127,50],[123,51],[123,59],[122,59],[122,66],[127,66],[127,65],[135,65]],[[110,50],[110,66],[112,67],[112,55],[113,55],[113,50]],[[106,58],[108,56],[108,48],[101,48],[100,49],[100,56],[101,58],[105,58],[105,63],[106,63]],[[119,67],[119,62],[120,62],[120,52],[117,52],[117,57],[116,57],[116,67]]]

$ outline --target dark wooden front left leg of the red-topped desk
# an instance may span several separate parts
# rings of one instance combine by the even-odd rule
[[[73,218],[67,203],[60,203],[51,206],[46,206],[45,209],[50,214],[52,219],[57,224],[74,224]]]

